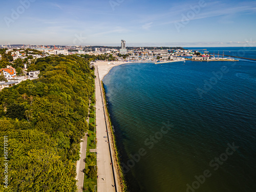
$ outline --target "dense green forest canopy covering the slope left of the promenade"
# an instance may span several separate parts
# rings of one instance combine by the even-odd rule
[[[0,191],[77,191],[76,161],[88,130],[94,68],[76,55],[39,58],[39,78],[0,92],[0,137],[8,138],[8,188]],[[0,147],[4,154],[4,147]]]

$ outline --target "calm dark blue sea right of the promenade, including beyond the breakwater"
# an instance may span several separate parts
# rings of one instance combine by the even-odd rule
[[[256,62],[128,64],[103,83],[131,191],[256,191]]]

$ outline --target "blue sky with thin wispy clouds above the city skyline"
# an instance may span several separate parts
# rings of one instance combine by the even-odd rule
[[[256,46],[256,1],[8,0],[0,45]]]

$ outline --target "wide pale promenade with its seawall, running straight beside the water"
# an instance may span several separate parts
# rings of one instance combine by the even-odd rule
[[[115,161],[114,149],[109,130],[108,116],[105,115],[105,106],[103,105],[102,88],[100,80],[102,80],[103,66],[95,65],[95,97],[96,97],[96,137],[97,137],[97,166],[98,176],[97,191],[98,192],[121,192],[118,170]],[[105,69],[104,69],[105,70]],[[99,72],[100,71],[100,72]],[[100,78],[99,78],[100,76]]]

